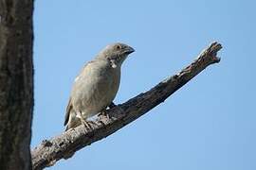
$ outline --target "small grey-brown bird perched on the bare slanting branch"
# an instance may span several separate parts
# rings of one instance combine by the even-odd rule
[[[112,104],[119,90],[121,64],[134,51],[124,43],[110,44],[84,65],[71,90],[64,118],[65,130],[81,124],[87,127],[87,118]]]

